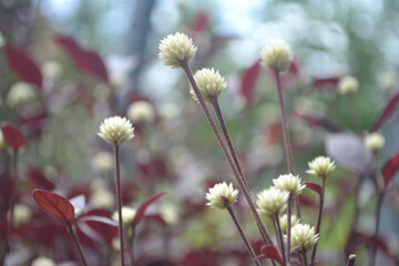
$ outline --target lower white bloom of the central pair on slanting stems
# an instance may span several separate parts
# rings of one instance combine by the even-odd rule
[[[218,98],[227,86],[225,79],[213,68],[198,70],[194,74],[194,80],[206,102],[211,102],[211,98]],[[198,102],[193,88],[190,88],[190,92],[193,99]]]

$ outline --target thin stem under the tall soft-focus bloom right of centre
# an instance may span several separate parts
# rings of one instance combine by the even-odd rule
[[[293,163],[293,149],[291,149],[288,127],[287,127],[287,119],[286,119],[286,112],[285,112],[285,106],[284,106],[280,74],[279,74],[279,70],[274,70],[274,71],[275,71],[276,84],[277,84],[278,104],[280,108],[280,115],[282,115],[282,129],[283,129],[284,147],[285,147],[285,154],[286,154],[286,158],[287,158],[287,165],[288,165],[289,173],[295,174],[294,163]],[[300,221],[301,217],[300,217],[300,208],[299,208],[299,196],[295,197],[295,205],[296,205],[297,216]]]

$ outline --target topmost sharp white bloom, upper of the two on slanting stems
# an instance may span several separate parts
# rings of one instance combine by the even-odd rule
[[[175,69],[180,68],[184,60],[190,62],[195,57],[197,48],[186,34],[176,32],[161,41],[160,50],[158,57],[163,63]]]

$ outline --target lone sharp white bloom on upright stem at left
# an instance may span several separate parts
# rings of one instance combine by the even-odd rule
[[[112,145],[121,145],[134,136],[132,123],[125,117],[108,117],[100,125],[99,136]]]

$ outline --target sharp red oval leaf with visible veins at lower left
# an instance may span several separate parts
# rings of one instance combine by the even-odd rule
[[[74,208],[64,197],[43,190],[33,191],[33,200],[51,217],[71,225],[74,221]]]

